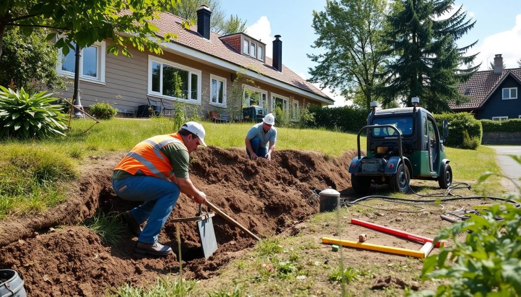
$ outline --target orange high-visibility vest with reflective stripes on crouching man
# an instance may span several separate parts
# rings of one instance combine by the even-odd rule
[[[143,140],[123,157],[114,170],[125,170],[132,175],[140,170],[144,175],[169,180],[173,174],[173,167],[161,148],[171,143],[184,146],[178,133],[157,135]]]

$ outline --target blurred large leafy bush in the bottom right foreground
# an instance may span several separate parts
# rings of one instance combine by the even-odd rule
[[[513,156],[513,159],[521,164],[521,158]],[[491,174],[482,174],[479,182]],[[506,198],[521,201],[519,193],[511,193]],[[451,239],[452,244],[439,254],[427,257],[422,278],[448,281],[436,292],[421,291],[416,295],[521,295],[521,209],[501,202],[486,206],[479,213],[443,229],[435,238]],[[461,234],[465,234],[463,242],[457,241]]]

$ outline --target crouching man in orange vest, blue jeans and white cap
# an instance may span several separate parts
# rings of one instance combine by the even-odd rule
[[[135,252],[155,256],[172,253],[170,247],[157,242],[157,237],[180,192],[196,203],[206,202],[205,193],[192,184],[188,174],[189,155],[197,146],[206,146],[205,134],[200,123],[185,123],[176,133],[141,141],[114,169],[112,186],[116,194],[144,202],[121,214],[129,230],[138,236]]]

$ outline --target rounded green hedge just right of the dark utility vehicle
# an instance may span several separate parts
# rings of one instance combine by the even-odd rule
[[[442,113],[435,114],[434,118],[441,135],[443,135],[443,119],[449,122],[449,138],[446,146],[477,149],[481,144],[483,136],[481,122],[476,120],[471,113]]]

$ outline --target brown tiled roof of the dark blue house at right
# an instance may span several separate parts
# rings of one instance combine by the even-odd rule
[[[466,83],[460,84],[460,92],[471,98],[470,101],[461,104],[449,104],[451,109],[476,109],[491,95],[495,86],[503,80],[505,75],[512,73],[521,80],[521,68],[503,69],[501,74],[494,74],[494,70],[477,71]]]

